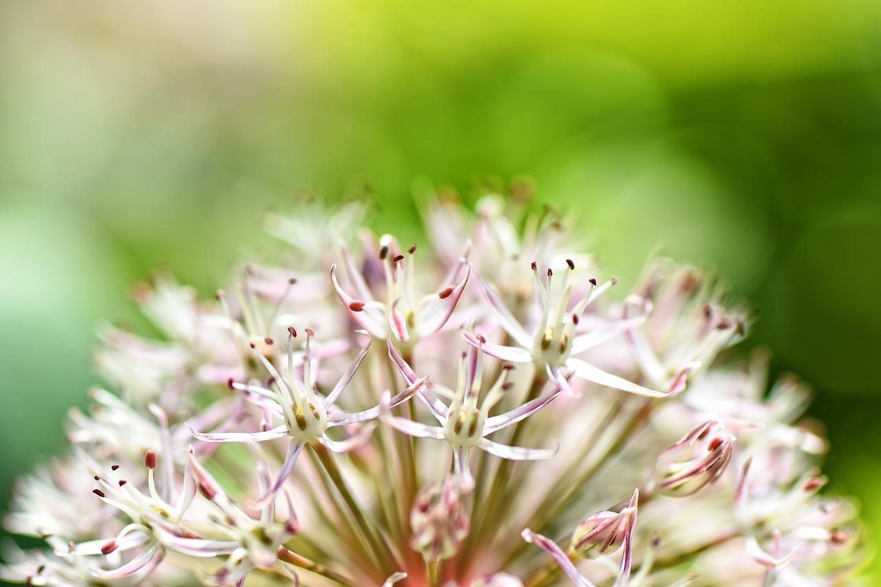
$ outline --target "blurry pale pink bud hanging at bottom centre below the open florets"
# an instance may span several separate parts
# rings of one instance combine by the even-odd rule
[[[411,547],[426,561],[448,559],[470,530],[470,517],[459,500],[458,481],[428,485],[419,492],[410,514]]]

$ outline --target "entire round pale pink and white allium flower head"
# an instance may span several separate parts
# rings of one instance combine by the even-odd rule
[[[809,393],[725,353],[743,309],[652,260],[629,294],[553,217],[423,207],[432,256],[363,209],[273,216],[293,253],[217,300],[135,290],[100,331],[69,456],[16,488],[0,577],[32,585],[815,585],[862,560],[818,493]],[[521,463],[520,461],[532,461]]]

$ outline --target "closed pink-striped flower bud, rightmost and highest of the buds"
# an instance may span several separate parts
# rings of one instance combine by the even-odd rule
[[[658,456],[655,490],[662,495],[685,497],[711,487],[731,460],[735,438],[710,436],[720,422],[708,420],[670,444]]]

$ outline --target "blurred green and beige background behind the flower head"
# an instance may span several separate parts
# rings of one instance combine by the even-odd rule
[[[211,292],[301,190],[409,240],[414,176],[528,174],[626,280],[660,245],[754,303],[877,541],[881,3],[418,4],[0,0],[0,495],[131,282]]]

